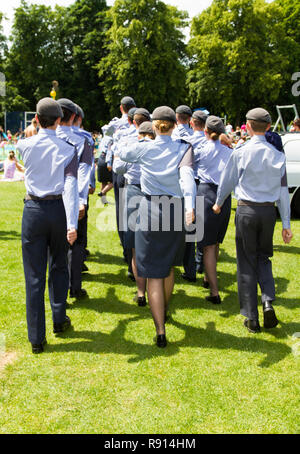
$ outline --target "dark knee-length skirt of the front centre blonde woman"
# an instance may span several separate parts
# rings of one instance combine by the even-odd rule
[[[158,197],[164,197],[165,205]],[[169,204],[168,201],[174,201]],[[173,266],[181,266],[185,249],[183,199],[144,196],[139,209],[135,250],[138,275],[162,279]]]

